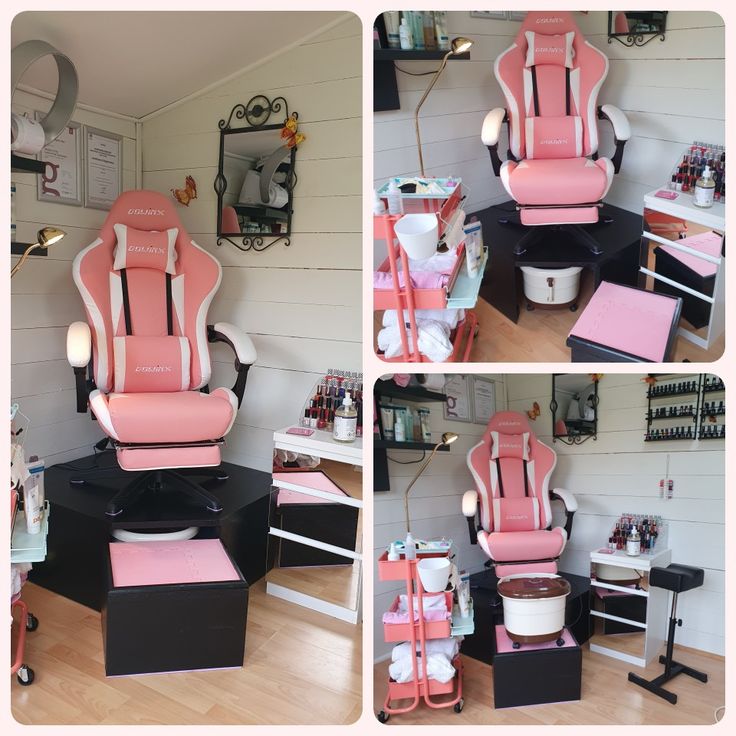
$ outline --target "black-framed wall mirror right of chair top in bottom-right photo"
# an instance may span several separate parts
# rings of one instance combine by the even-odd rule
[[[552,441],[579,445],[598,434],[598,380],[589,373],[553,373]]]

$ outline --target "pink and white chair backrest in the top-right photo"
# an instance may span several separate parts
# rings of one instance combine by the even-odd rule
[[[528,12],[494,73],[515,158],[575,158],[598,150],[596,107],[608,59],[583,38],[570,12]]]

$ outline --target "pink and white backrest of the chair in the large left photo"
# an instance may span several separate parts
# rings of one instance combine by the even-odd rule
[[[185,391],[211,375],[207,310],[220,264],[159,192],[118,197],[99,237],[74,259],[101,391]]]

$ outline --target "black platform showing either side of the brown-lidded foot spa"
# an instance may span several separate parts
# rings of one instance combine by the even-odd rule
[[[570,595],[565,606],[565,626],[572,632],[578,644],[585,644],[591,636],[590,629],[590,578],[560,572],[570,583]],[[493,664],[496,653],[497,624],[503,623],[503,605],[496,592],[498,578],[492,570],[484,570],[470,576],[470,595],[473,599],[475,633],[466,636],[460,651],[486,664]]]

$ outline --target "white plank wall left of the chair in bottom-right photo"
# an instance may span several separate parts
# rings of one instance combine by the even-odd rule
[[[496,382],[496,409],[505,406],[505,386],[502,376],[489,376]],[[392,403],[402,404],[399,400]],[[437,403],[411,404],[426,406],[430,411],[432,441],[439,442],[443,432],[455,432],[459,438],[450,446],[449,452],[438,452],[430,465],[412,488],[409,497],[409,513],[412,534],[417,539],[448,537],[455,543],[457,563],[461,568],[478,572],[483,569],[485,555],[470,544],[468,527],[462,515],[461,501],[465,491],[473,488],[473,478],[465,463],[468,450],[477,444],[485,427],[468,422],[450,422],[442,417],[442,405]],[[389,450],[389,457],[407,462],[421,457],[419,452]],[[389,460],[391,480],[389,493],[376,493],[373,497],[373,557],[378,559],[392,541],[404,539],[406,521],[404,517],[404,491],[417,472],[419,464],[399,465]],[[393,645],[383,641],[381,618],[389,609],[393,599],[404,590],[402,581],[381,582],[378,567],[374,566],[374,656],[380,659],[388,654]]]

